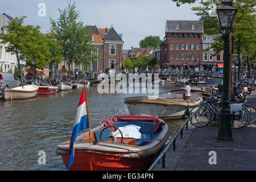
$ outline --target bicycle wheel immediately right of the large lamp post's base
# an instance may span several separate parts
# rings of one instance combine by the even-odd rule
[[[242,111],[237,111],[232,114],[231,127],[233,129],[241,129],[246,127],[250,122],[250,111],[243,107]]]

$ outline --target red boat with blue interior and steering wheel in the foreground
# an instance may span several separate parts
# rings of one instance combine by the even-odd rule
[[[141,127],[140,137],[129,133],[130,130],[122,132],[125,127],[134,127],[132,125]],[[88,132],[77,137],[75,159],[69,170],[138,171],[149,167],[163,148],[168,139],[168,125],[158,117],[115,115],[94,128],[90,137],[92,144],[89,142]],[[67,167],[69,141],[59,144],[56,154],[62,156]]]

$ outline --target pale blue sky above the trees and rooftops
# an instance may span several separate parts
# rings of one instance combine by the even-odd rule
[[[69,0],[70,1],[70,0]],[[74,2],[74,0],[71,0]],[[76,0],[80,14],[79,21],[84,25],[96,25],[98,28],[111,27],[122,34],[123,49],[139,47],[139,41],[146,36],[164,38],[166,20],[199,20],[199,16],[191,10],[193,5],[181,5],[171,0]],[[46,6],[45,16],[38,7],[40,3]],[[41,32],[51,29],[49,17],[59,18],[59,11],[68,5],[67,0],[8,0],[1,3],[0,13],[10,16],[27,16],[24,24],[39,25]]]

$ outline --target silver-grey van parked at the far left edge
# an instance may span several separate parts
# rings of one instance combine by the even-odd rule
[[[0,89],[12,89],[17,86],[21,86],[21,84],[14,73],[0,73]]]

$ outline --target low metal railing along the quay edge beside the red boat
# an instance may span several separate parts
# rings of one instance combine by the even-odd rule
[[[193,113],[191,115],[191,117],[194,115],[195,113]],[[186,127],[186,130],[188,130],[188,122],[190,121],[190,119],[188,118],[187,121],[184,122],[184,124],[180,127],[180,129],[176,132],[176,134],[174,135],[174,137],[172,137],[171,141],[168,142],[168,144],[166,145],[166,147],[164,147],[163,151],[160,152],[160,154],[158,155],[158,157],[155,159],[154,163],[151,164],[151,166],[147,169],[148,171],[152,171],[152,169],[155,168],[156,164],[158,164],[158,162],[162,159],[162,168],[166,168],[166,152],[169,150],[169,148],[172,145],[172,150],[176,150],[176,138],[177,136],[180,134],[180,138],[183,138],[183,129],[184,127]]]

